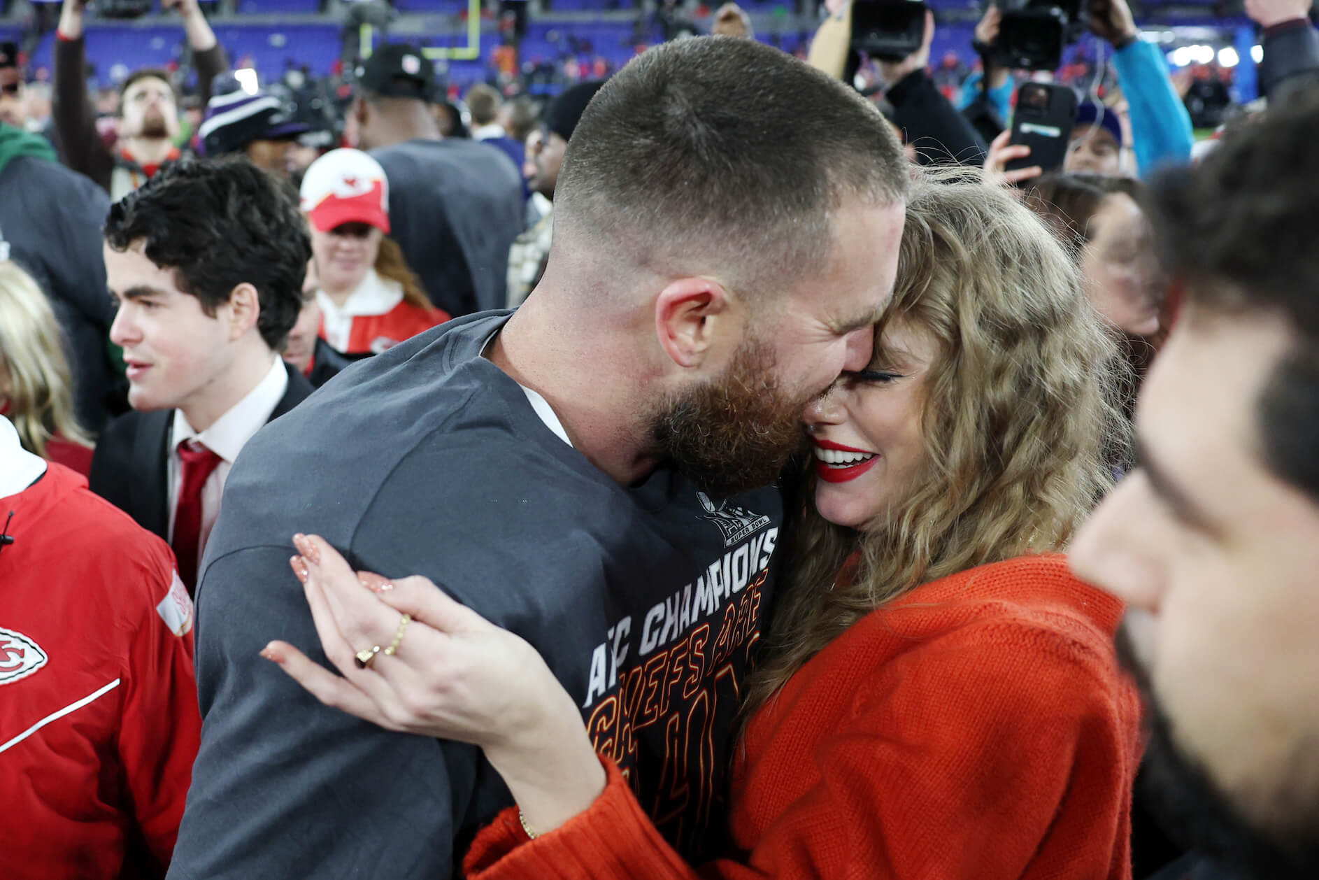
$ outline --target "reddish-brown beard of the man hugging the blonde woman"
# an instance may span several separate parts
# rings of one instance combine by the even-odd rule
[[[785,396],[773,347],[748,340],[719,379],[665,401],[654,439],[679,472],[711,495],[769,486],[805,446],[802,413],[816,393]]]

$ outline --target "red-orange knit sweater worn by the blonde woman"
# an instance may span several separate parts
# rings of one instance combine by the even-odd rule
[[[604,794],[528,840],[516,809],[476,838],[474,880],[1128,879],[1140,701],[1122,607],[1028,557],[868,615],[752,719],[729,858],[689,865],[607,764]]]

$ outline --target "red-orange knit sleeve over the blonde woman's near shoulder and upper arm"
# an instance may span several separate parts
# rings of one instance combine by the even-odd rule
[[[984,621],[885,664],[818,802],[864,876],[1130,877],[1138,719],[1097,637]]]

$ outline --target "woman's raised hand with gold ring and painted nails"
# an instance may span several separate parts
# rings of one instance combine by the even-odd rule
[[[342,677],[284,641],[272,641],[262,657],[326,706],[386,730],[480,745],[538,831],[599,796],[604,769],[582,716],[530,644],[426,578],[353,573],[319,537],[295,536],[294,544],[301,555],[290,565]]]

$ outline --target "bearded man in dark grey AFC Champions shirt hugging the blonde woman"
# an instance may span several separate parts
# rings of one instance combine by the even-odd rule
[[[805,405],[872,356],[906,182],[873,107],[757,42],[616,74],[568,142],[526,302],[352,367],[230,474],[170,876],[450,877],[510,802],[475,747],[365,724],[261,660],[280,637],[327,662],[295,532],[532,643],[699,858],[774,587],[772,484]]]

